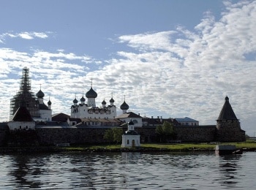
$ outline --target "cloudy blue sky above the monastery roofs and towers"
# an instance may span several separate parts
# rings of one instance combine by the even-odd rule
[[[256,1],[1,1],[0,121],[29,68],[53,113],[92,87],[141,116],[216,124],[230,99],[256,135]],[[75,95],[76,94],[76,95]]]

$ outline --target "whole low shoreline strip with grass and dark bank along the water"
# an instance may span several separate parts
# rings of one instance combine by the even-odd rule
[[[177,144],[141,144],[138,148],[121,148],[121,145],[74,145],[69,147],[35,146],[35,147],[0,147],[0,153],[59,153],[59,152],[189,152],[214,151],[218,145],[236,145],[243,151],[256,151],[256,142],[223,142],[223,143],[177,143]]]

